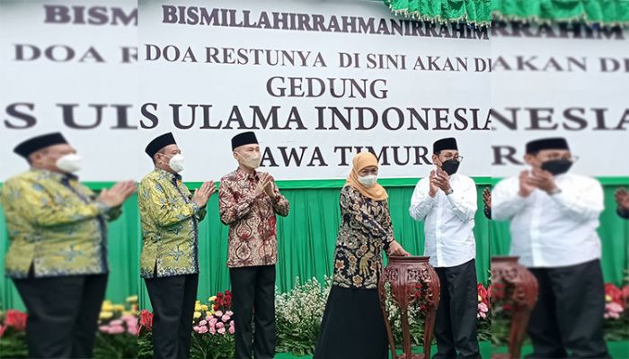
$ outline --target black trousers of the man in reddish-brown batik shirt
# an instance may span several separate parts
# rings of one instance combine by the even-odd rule
[[[275,355],[275,265],[230,268],[237,359]],[[255,312],[255,315],[253,315]],[[252,318],[255,337],[252,337]]]

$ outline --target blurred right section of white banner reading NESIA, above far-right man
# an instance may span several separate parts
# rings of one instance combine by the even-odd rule
[[[492,27],[492,175],[515,175],[530,139],[563,136],[583,175],[629,175],[629,31]]]

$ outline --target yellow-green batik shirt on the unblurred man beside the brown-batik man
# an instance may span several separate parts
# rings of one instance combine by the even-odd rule
[[[182,176],[161,169],[146,175],[137,201],[142,220],[143,278],[199,273],[199,221],[206,214],[192,202]]]

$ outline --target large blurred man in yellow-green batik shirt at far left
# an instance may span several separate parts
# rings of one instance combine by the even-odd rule
[[[28,310],[29,357],[91,357],[109,273],[107,221],[120,216],[136,184],[97,197],[72,175],[81,157],[58,132],[14,152],[31,168],[2,188],[11,240],[5,272]]]

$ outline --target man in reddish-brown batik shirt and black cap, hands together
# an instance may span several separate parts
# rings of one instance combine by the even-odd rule
[[[269,174],[256,171],[261,153],[253,132],[232,139],[238,168],[221,178],[221,221],[229,226],[227,266],[234,294],[236,358],[275,355],[276,214],[288,216],[288,201]],[[252,314],[255,312],[255,337]]]

